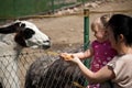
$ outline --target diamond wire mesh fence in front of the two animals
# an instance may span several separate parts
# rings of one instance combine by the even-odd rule
[[[57,53],[26,48],[20,54],[0,55],[0,88],[81,88],[84,77]]]

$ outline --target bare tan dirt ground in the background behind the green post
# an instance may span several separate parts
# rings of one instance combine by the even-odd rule
[[[80,13],[84,8],[88,8],[90,11],[131,10],[129,12],[121,13],[132,15],[132,0],[97,0],[90,3],[91,4],[87,3],[77,9],[79,9]],[[90,23],[94,19],[100,16],[101,14],[105,13],[91,13],[89,16]],[[84,15],[61,15],[57,18],[32,19],[30,21],[35,23],[51,37],[51,50],[63,50],[65,47],[72,48],[73,46],[84,44]],[[94,40],[91,31],[89,33],[89,38],[90,41]]]

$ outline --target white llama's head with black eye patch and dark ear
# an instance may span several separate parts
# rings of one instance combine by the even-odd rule
[[[0,33],[15,33],[14,41],[23,47],[48,48],[51,46],[50,37],[29,21],[15,21],[10,25],[0,28]]]

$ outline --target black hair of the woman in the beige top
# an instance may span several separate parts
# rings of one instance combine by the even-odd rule
[[[107,28],[110,26],[116,41],[120,34],[124,36],[125,44],[132,46],[132,18],[125,14],[113,14],[108,22]]]

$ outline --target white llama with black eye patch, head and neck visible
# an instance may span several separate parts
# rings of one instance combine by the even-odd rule
[[[51,46],[51,40],[29,21],[15,21],[1,26],[0,33],[0,55],[4,55],[0,57],[0,86],[20,88],[16,75],[19,54],[24,47],[46,50]]]

